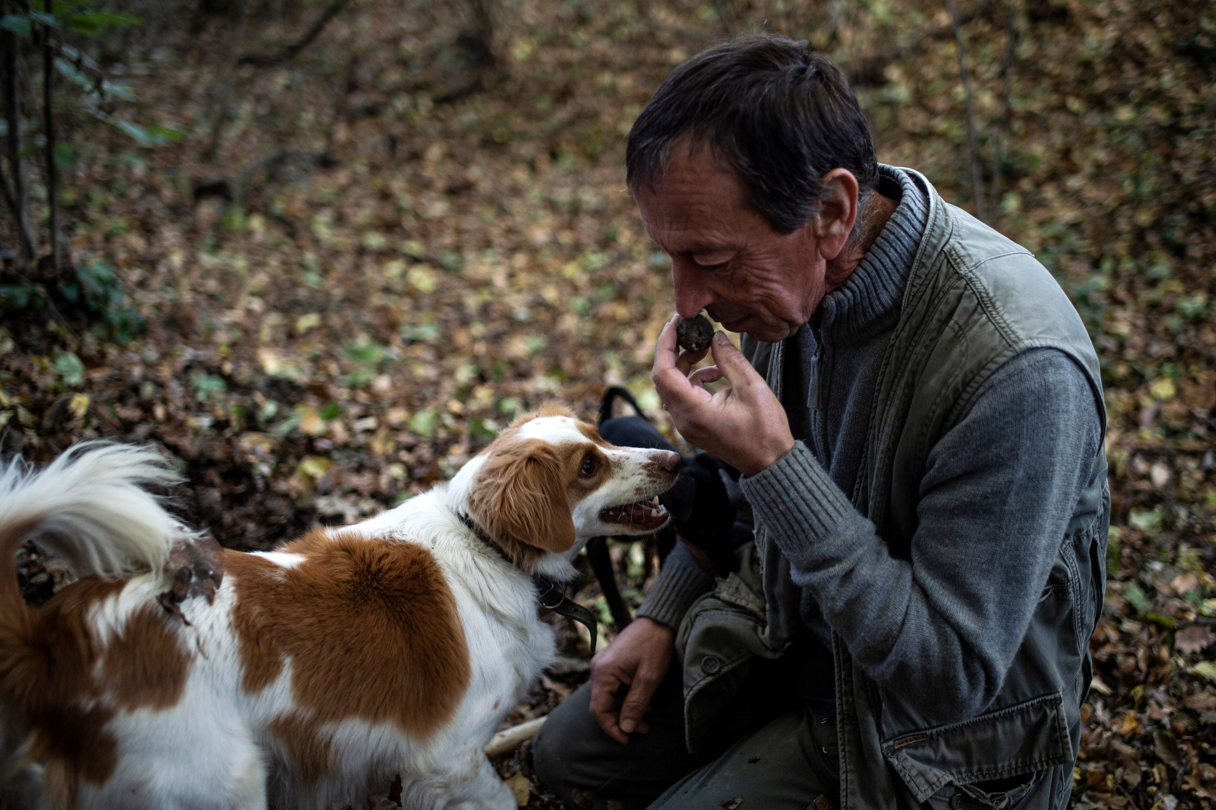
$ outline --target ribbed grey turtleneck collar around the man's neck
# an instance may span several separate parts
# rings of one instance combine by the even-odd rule
[[[899,317],[903,286],[929,221],[927,189],[895,167],[879,164],[878,171],[879,193],[899,201],[895,212],[856,270],[820,304],[820,328],[840,337],[863,337]]]

